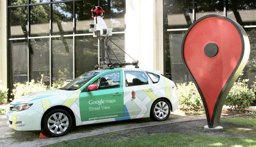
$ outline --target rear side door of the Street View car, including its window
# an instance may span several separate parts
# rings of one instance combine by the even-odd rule
[[[131,119],[149,117],[151,81],[143,71],[123,71],[124,107]],[[125,114],[127,114],[125,113]]]

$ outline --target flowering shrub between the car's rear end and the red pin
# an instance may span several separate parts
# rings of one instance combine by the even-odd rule
[[[183,109],[198,111],[204,107],[201,96],[193,82],[177,84],[179,104]]]

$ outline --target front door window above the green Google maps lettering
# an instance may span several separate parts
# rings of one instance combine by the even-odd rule
[[[92,84],[98,85],[98,89],[119,88],[120,72],[111,72],[111,73],[102,75]]]

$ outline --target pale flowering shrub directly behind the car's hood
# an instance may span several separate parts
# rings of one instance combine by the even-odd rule
[[[14,99],[30,93],[47,90],[47,86],[43,82],[35,82],[34,80],[26,82],[26,84],[16,83],[13,86],[14,89],[12,89],[11,95],[14,95]]]

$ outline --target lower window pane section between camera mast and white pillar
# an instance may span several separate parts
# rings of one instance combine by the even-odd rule
[[[114,43],[116,43],[121,49],[125,50],[125,34],[113,34],[111,37],[111,40]],[[117,46],[115,46],[111,42],[109,42],[109,46],[111,47],[111,48],[108,48],[108,50],[107,50],[108,54],[109,54],[109,58],[116,59],[116,57],[117,57],[119,60],[125,61],[125,53],[124,52],[122,52]],[[113,50],[115,55],[113,54],[111,49]],[[112,63],[115,63],[115,61],[112,61]]]

